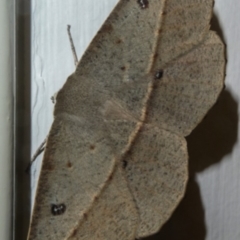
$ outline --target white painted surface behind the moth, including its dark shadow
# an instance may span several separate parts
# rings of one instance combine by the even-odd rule
[[[53,119],[50,97],[61,88],[75,68],[66,32],[67,24],[72,26],[80,58],[116,2],[32,1],[32,152],[47,135]],[[168,240],[188,240],[190,237],[194,240],[240,239],[240,144],[237,141],[240,99],[239,10],[239,0],[215,1],[214,12],[227,45],[227,88],[219,106],[209,113],[209,120],[203,122],[198,128],[200,130],[189,137],[190,152],[193,151],[190,154],[189,189],[186,199],[165,228],[163,235]],[[197,143],[199,152],[194,150],[196,146],[191,147],[198,135],[206,138],[203,141],[205,145]],[[39,166],[38,159],[32,168],[33,192]],[[192,197],[196,199],[187,200]],[[193,229],[198,229],[196,232],[199,233],[190,233],[191,224],[195,221],[192,218],[196,220]],[[168,228],[176,229],[175,234]]]

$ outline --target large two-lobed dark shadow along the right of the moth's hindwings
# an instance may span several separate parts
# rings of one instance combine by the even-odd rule
[[[145,240],[205,239],[204,207],[195,176],[196,173],[219,163],[224,156],[231,153],[237,141],[237,111],[237,102],[227,90],[224,90],[220,94],[217,104],[187,137],[189,182],[186,194],[160,232],[144,238]]]

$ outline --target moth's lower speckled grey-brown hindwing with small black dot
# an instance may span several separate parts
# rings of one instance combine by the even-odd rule
[[[123,161],[129,188],[140,214],[136,237],[157,232],[185,192],[188,177],[186,140],[145,125]]]

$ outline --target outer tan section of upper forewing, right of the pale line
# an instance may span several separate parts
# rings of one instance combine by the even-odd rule
[[[213,0],[166,0],[155,67],[163,67],[198,45],[209,32]]]

